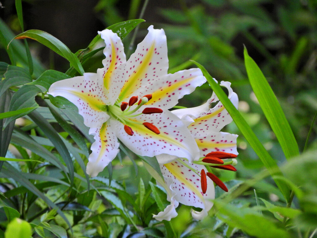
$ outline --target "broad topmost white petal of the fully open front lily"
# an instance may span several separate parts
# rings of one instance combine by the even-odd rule
[[[149,33],[124,65],[122,75],[114,82],[122,87],[118,102],[127,101],[131,96],[144,96],[143,84],[146,80],[155,81],[167,74],[168,58],[164,30],[153,29],[153,26],[148,30]]]

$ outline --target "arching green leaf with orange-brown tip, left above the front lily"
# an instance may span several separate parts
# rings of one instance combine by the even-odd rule
[[[49,33],[42,30],[27,30],[17,35],[14,39],[25,38],[36,40],[42,43],[43,45],[47,46],[49,49],[53,50],[60,56],[64,57],[69,61],[71,66],[73,66],[81,75],[83,75],[83,73],[85,72],[78,58],[68,49],[68,47],[57,38],[50,35]],[[10,43],[12,42],[12,40],[10,41]]]

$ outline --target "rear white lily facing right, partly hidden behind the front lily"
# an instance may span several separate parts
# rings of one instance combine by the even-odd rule
[[[230,83],[221,82],[220,85],[228,89],[228,97],[237,107],[238,97],[232,91]],[[162,182],[162,179],[160,179],[161,181],[158,179],[159,175],[154,169],[150,172],[157,182],[165,188],[167,200],[171,202],[171,205],[165,208],[164,211],[159,212],[158,215],[154,215],[155,219],[169,221],[177,216],[175,208],[177,208],[178,203],[182,203],[202,208],[200,212],[195,210],[191,212],[193,218],[201,220],[213,206],[210,201],[215,199],[213,182],[223,190],[228,191],[227,187],[216,175],[205,171],[205,165],[236,171],[231,164],[236,164],[236,160],[232,160],[232,158],[235,158],[238,154],[236,150],[237,135],[220,131],[232,121],[232,118],[221,102],[209,109],[210,103],[217,102],[217,100],[217,96],[213,93],[211,98],[201,106],[172,111],[172,113],[184,120],[184,123],[194,136],[200,150],[200,160],[191,163],[185,159],[175,158],[175,156],[167,154],[156,156],[157,158],[159,157],[160,161],[166,161],[166,163],[160,163],[164,181]],[[170,162],[172,158],[174,161]],[[146,168],[148,169],[148,166]]]

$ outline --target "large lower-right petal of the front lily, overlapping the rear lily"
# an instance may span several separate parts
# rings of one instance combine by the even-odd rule
[[[144,122],[153,123],[160,134],[147,129],[143,125]],[[189,161],[199,159],[194,138],[182,121],[168,110],[160,114],[142,114],[131,118],[126,124],[132,128],[133,136],[127,136],[122,124],[117,123],[120,128],[117,132],[119,140],[138,155],[151,157],[166,153]]]

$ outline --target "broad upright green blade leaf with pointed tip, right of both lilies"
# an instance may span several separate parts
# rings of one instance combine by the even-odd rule
[[[282,147],[285,157],[289,159],[292,156],[298,155],[298,145],[283,110],[261,69],[248,55],[246,48],[244,48],[244,62],[252,89],[260,103],[265,117]]]

